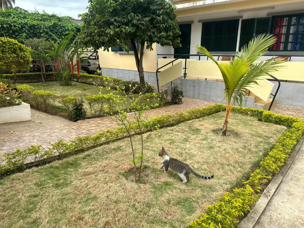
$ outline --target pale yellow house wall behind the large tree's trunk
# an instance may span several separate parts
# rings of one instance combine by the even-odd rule
[[[152,45],[153,51],[145,48],[143,52],[143,71],[155,72],[156,70],[156,44]],[[137,71],[134,54],[118,54],[117,52],[98,50],[100,67]]]

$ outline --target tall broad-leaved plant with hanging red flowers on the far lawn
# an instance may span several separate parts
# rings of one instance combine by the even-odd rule
[[[87,59],[87,57],[82,56],[85,48],[80,47],[75,42],[72,42],[74,37],[73,33],[70,33],[63,40],[59,40],[54,34],[52,34],[56,39],[56,44],[50,40],[53,45],[53,50],[45,50],[40,53],[49,58],[51,63],[54,63],[54,75],[57,77],[60,85],[72,85],[74,77],[74,67],[77,65],[78,77],[80,74],[80,62]],[[74,60],[76,63],[74,65]],[[78,79],[77,77],[77,79]]]

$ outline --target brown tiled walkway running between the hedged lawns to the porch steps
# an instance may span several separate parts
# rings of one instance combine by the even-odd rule
[[[189,109],[203,108],[215,104],[214,102],[184,98],[183,103],[171,105],[164,108],[147,110],[149,118],[176,112],[185,112]],[[274,105],[272,111],[288,116],[298,116],[304,120],[304,109],[286,105]],[[81,120],[76,123],[69,123],[59,126],[44,127],[36,130],[28,130],[5,134],[0,136],[0,164],[1,155],[12,152],[16,148],[25,149],[31,145],[42,144],[47,147],[48,142],[54,143],[58,140],[73,140],[77,136],[95,135],[99,131],[108,128],[116,128],[116,123],[110,117]]]

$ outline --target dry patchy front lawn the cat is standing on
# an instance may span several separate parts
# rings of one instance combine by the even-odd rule
[[[187,227],[247,178],[286,129],[233,113],[227,136],[221,136],[223,121],[221,112],[156,131],[145,142],[141,184],[128,172],[128,139],[5,177],[1,227]],[[214,178],[190,175],[183,184],[173,171],[164,174],[157,157],[162,146],[169,156]]]

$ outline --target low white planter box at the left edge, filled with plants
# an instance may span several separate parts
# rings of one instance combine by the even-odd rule
[[[29,104],[22,102],[21,105],[14,105],[0,108],[0,123],[12,123],[31,120],[31,108]]]

